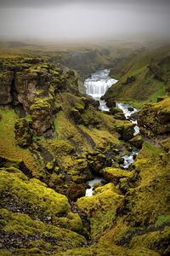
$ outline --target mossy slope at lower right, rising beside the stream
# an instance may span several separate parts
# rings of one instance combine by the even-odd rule
[[[116,208],[116,216],[112,219],[114,227],[105,232],[100,241],[110,240],[116,244],[127,244],[135,237],[138,246],[138,236],[154,231],[161,231],[169,226],[169,155],[161,148],[144,143],[143,148],[133,164],[133,173],[137,174],[135,188],[127,189],[124,198]],[[120,186],[124,180],[120,179]],[[163,189],[162,189],[163,188]],[[159,221],[164,216],[163,223]],[[163,226],[162,226],[163,224]],[[140,234],[139,231],[140,230]],[[167,239],[167,238],[166,238]],[[165,241],[166,241],[165,239]],[[146,239],[147,240],[147,239]],[[148,241],[149,242],[149,241]],[[159,252],[158,247],[150,248]],[[160,250],[163,245],[160,236]],[[148,246],[149,248],[149,246]]]

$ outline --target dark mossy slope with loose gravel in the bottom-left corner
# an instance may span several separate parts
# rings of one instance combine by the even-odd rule
[[[1,209],[0,226],[2,238],[6,240],[3,250],[8,250],[0,250],[1,255],[51,255],[61,253],[63,248],[82,247],[86,243],[83,236],[71,230],[44,224],[27,214],[6,209]]]

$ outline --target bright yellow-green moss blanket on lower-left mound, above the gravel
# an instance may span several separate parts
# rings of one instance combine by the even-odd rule
[[[6,177],[8,174],[8,178]],[[18,173],[0,173],[1,191],[8,191],[10,200],[18,201],[20,206],[31,203],[32,214],[57,216],[70,212],[70,206],[65,195],[59,195],[53,189],[48,189],[44,183],[37,179],[28,180],[26,176]],[[5,193],[5,192],[4,192]],[[7,199],[8,201],[8,199]],[[5,204],[5,201],[3,202]]]

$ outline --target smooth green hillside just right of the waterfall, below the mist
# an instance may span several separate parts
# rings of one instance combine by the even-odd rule
[[[154,103],[157,96],[168,95],[169,51],[169,45],[137,50],[113,68],[111,76],[119,81],[106,92],[106,101],[127,102],[140,108],[144,102]],[[135,79],[127,82],[131,77]]]

